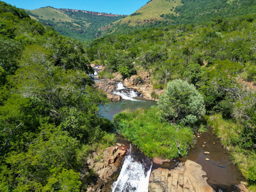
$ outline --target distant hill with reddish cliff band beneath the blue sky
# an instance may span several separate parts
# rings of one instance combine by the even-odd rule
[[[84,10],[56,9],[51,6],[36,10],[26,10],[31,19],[52,26],[61,35],[88,41],[99,36],[105,26],[125,15],[115,15]]]

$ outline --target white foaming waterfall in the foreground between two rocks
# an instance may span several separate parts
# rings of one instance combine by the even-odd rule
[[[130,152],[132,148],[130,147]],[[151,168],[145,175],[145,168],[141,163],[134,161],[131,154],[125,157],[122,170],[116,182],[113,183],[112,192],[148,192],[148,180]]]

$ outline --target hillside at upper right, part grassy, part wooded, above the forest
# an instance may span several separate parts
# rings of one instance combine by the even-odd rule
[[[129,33],[147,27],[198,24],[216,17],[233,18],[255,13],[253,0],[151,0],[125,19],[108,25],[104,35]]]

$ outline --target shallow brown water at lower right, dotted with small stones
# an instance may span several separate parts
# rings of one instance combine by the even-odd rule
[[[200,134],[200,138],[196,136],[196,141],[196,147],[189,151],[188,156],[180,158],[179,161],[185,162],[189,159],[201,164],[207,173],[206,177],[209,178],[207,182],[215,189],[230,191],[232,184],[240,184],[241,180],[244,180],[241,172],[232,163],[230,154],[223,150],[220,140],[212,133],[212,129]],[[204,154],[204,152],[210,152],[210,154]],[[206,158],[210,161],[205,161]]]

